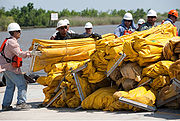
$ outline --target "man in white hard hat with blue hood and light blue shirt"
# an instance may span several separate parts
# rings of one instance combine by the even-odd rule
[[[118,37],[128,35],[136,30],[133,17],[131,13],[126,13],[121,24],[115,29],[114,34]]]

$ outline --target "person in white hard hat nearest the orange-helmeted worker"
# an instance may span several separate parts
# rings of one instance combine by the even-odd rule
[[[152,28],[153,26],[156,26],[156,20],[157,20],[156,11],[154,11],[152,9],[149,10],[147,13],[147,22],[141,26],[140,31],[148,30],[148,29]]]

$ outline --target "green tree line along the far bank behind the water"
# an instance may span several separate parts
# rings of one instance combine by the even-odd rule
[[[177,9],[180,13],[180,9]],[[108,10],[106,12],[98,11],[95,9],[84,9],[80,12],[77,12],[75,10],[68,10],[63,9],[62,11],[52,11],[52,10],[43,10],[43,9],[36,9],[34,8],[33,3],[28,3],[26,6],[23,6],[21,8],[14,7],[9,11],[5,11],[5,8],[0,8],[0,30],[6,30],[7,25],[11,22],[17,22],[22,27],[52,27],[55,26],[56,22],[52,22],[50,20],[51,13],[58,13],[59,18],[69,18],[71,21],[73,21],[73,18],[80,17],[86,18],[84,21],[87,21],[88,18],[97,18],[95,20],[98,20],[98,18],[106,18],[109,22],[101,22],[101,24],[119,24],[120,19],[123,18],[124,14],[126,12],[130,12],[133,15],[133,18],[135,22],[138,21],[140,18],[146,19],[147,11],[144,9],[137,9],[137,10]],[[158,20],[161,21],[163,19],[167,18],[168,12],[165,12],[163,14],[158,13]],[[110,19],[113,18],[114,19]],[[116,20],[117,19],[117,20]],[[81,24],[84,24],[84,22],[81,22]],[[73,23],[74,26],[81,25],[80,23],[76,22]],[[93,24],[99,24],[98,22],[94,21]]]

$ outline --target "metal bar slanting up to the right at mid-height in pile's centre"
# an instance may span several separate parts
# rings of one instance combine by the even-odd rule
[[[121,55],[119,59],[116,61],[116,63],[109,69],[107,72],[107,77],[116,69],[116,67],[123,61],[123,59],[126,57],[125,53],[119,53]]]

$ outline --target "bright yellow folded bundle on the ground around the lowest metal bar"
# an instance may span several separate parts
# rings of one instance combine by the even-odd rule
[[[138,87],[133,90],[128,91],[117,91],[114,93],[113,97],[117,100],[114,101],[109,107],[107,107],[105,110],[133,110],[133,111],[140,111],[142,109],[139,109],[137,107],[134,107],[132,105],[128,105],[126,103],[120,102],[118,99],[119,97],[124,97],[130,100],[134,100],[149,106],[153,106],[155,104],[155,93],[153,90],[147,88],[147,87]]]

